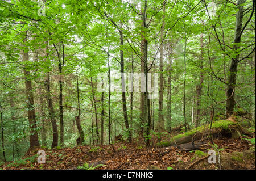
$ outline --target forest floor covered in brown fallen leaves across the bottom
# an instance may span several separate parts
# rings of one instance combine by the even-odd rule
[[[43,149],[46,151],[45,164],[38,164],[38,155],[35,151],[22,159],[5,163],[5,165],[0,166],[0,169],[88,170],[93,169],[98,164],[104,164],[104,166],[95,169],[204,170],[220,169],[220,164],[221,169],[255,169],[255,144],[251,144],[243,138],[234,140],[225,137],[215,138],[214,144],[218,145],[220,151],[220,162],[217,154],[216,164],[208,163],[208,150],[212,149],[210,142],[203,146],[204,154],[200,151],[178,150],[173,146],[153,149],[146,148],[142,144],[116,142],[112,145]],[[218,152],[216,151],[216,153]]]

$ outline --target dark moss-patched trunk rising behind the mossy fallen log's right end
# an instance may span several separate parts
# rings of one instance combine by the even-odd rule
[[[235,27],[235,37],[234,37],[234,50],[236,51],[236,58],[232,58],[230,68],[229,68],[229,85],[227,87],[226,95],[226,115],[230,116],[233,113],[234,106],[236,105],[235,101],[235,87],[236,87],[236,79],[237,79],[237,67],[239,61],[239,49],[240,46],[237,45],[241,42],[241,31],[242,31],[242,20],[243,20],[243,3],[245,0],[238,0],[238,11],[236,16],[236,27]],[[253,7],[254,8],[254,7]]]

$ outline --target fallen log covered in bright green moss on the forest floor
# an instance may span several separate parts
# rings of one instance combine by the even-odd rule
[[[174,137],[172,137],[169,141],[161,141],[158,142],[155,146],[156,147],[167,147],[167,146],[174,146],[174,145],[180,145],[185,144],[187,142],[191,142],[192,140],[199,140],[202,136],[207,136],[210,134],[209,132],[210,125],[202,125],[201,127],[197,127],[194,129],[191,129],[188,132],[185,132],[183,134],[178,134]],[[233,131],[239,130],[243,134],[248,134],[247,130],[245,128],[242,128],[238,123],[235,123],[230,120],[219,120],[214,121],[212,123],[212,134],[219,133],[221,131],[226,131],[232,133]]]

